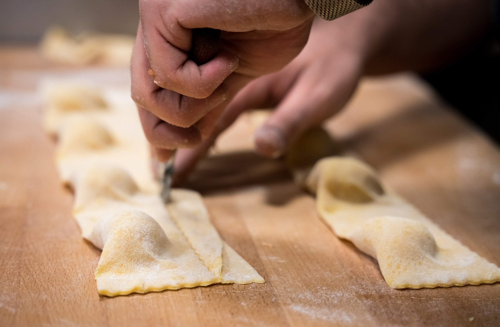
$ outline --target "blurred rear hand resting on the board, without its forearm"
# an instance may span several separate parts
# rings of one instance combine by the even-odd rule
[[[255,134],[256,150],[272,158],[283,154],[305,130],[340,110],[363,68],[363,41],[344,28],[351,21],[349,15],[331,22],[315,20],[306,46],[293,61],[247,84],[229,103],[209,138],[194,149],[178,150],[174,183],[185,179],[217,136],[245,110],[275,107]]]

